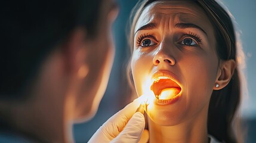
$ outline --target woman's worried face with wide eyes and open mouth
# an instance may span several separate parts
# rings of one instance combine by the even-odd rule
[[[138,96],[153,97],[150,119],[172,126],[207,114],[218,70],[215,43],[211,22],[192,1],[144,9],[135,24],[131,66]]]

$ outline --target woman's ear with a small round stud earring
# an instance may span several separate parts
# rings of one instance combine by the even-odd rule
[[[235,69],[235,60],[221,61],[215,80],[214,90],[223,89],[229,83]]]

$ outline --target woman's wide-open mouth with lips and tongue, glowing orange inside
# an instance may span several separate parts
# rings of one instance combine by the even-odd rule
[[[150,88],[158,100],[171,100],[181,91],[181,87],[166,76],[157,77]]]

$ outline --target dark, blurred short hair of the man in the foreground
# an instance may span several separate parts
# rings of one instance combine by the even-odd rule
[[[97,33],[101,0],[1,2],[0,98],[23,98],[42,61],[75,27]]]

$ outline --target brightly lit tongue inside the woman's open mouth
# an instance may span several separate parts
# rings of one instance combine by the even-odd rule
[[[159,100],[170,100],[180,93],[180,88],[165,88],[161,91],[159,95]]]

